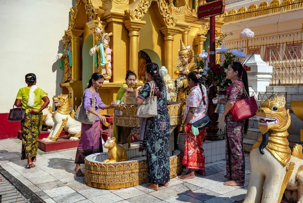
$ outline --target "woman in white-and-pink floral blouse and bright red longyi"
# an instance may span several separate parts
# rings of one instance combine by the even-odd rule
[[[199,132],[192,131],[192,123],[205,117],[208,107],[207,90],[201,84],[201,75],[198,72],[191,72],[187,75],[190,94],[187,97],[184,114],[183,114],[183,133],[186,134],[184,156],[182,164],[188,168],[188,172],[180,177],[180,179],[194,178],[194,171],[205,174],[205,155],[203,150],[203,140],[205,137],[206,128]]]

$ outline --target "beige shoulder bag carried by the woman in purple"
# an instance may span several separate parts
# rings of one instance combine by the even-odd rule
[[[91,91],[91,90],[86,89],[85,91]],[[84,91],[84,93],[85,93],[85,91]],[[83,93],[83,95],[84,95],[84,93]],[[95,108],[94,95],[93,95],[92,91],[91,91],[91,93],[92,93],[91,107],[94,109]],[[82,102],[81,102],[80,106],[78,107],[74,117],[76,120],[78,120],[79,122],[81,122],[83,124],[93,124],[95,122],[95,115],[84,109],[84,99],[82,99]]]

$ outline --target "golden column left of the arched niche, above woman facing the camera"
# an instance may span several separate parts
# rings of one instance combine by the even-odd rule
[[[129,70],[135,72],[138,76],[138,37],[139,31],[146,24],[145,21],[127,20],[124,22],[125,27],[129,33]],[[139,82],[137,78],[137,83]]]

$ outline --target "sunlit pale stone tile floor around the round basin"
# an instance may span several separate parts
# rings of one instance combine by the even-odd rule
[[[27,168],[26,160],[20,160],[20,152],[20,140],[0,140],[1,166],[49,203],[229,203],[245,197],[249,180],[250,163],[249,156],[246,156],[246,182],[242,187],[223,185],[227,180],[224,177],[225,161],[219,161],[206,164],[207,176],[196,176],[191,180],[174,178],[168,187],[162,186],[159,191],[146,188],[146,184],[118,190],[102,190],[85,185],[83,177],[74,175],[76,149],[53,153],[39,151],[36,167],[32,169]]]

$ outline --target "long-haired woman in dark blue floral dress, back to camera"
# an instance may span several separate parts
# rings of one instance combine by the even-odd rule
[[[156,85],[155,96],[158,97],[158,116],[141,119],[140,150],[145,148],[145,140],[148,176],[151,182],[147,187],[159,190],[159,184],[168,186],[170,180],[170,117],[167,108],[166,87],[159,74],[159,67],[156,63],[147,63],[145,67],[148,83],[143,86],[140,94],[135,90],[138,95],[136,101],[138,105],[142,104],[149,97],[151,83],[154,83]]]

